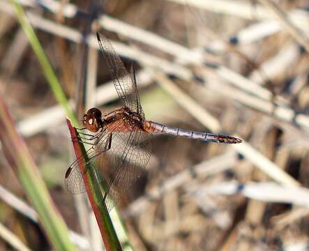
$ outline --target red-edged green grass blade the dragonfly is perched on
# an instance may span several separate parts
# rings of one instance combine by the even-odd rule
[[[98,180],[100,175],[96,174],[96,169],[85,165],[89,162],[86,155],[86,150],[84,149],[84,144],[79,140],[80,137],[77,134],[76,129],[72,126],[69,119],[66,120],[68,123],[68,129],[70,130],[70,135],[73,142],[73,147],[75,155],[78,161],[80,172],[83,174],[83,181],[86,188],[87,195],[94,214],[96,215],[96,221],[100,228],[100,232],[105,244],[106,250],[121,250],[121,245],[112,225],[112,220],[107,211],[105,203],[103,203],[103,190],[101,186],[102,181]],[[86,172],[85,172],[86,170]]]

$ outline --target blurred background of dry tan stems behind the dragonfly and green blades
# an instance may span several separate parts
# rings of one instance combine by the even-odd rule
[[[117,204],[123,247],[308,250],[309,1],[20,3],[77,119],[121,107],[99,30],[128,69],[135,63],[146,119],[243,139],[152,137],[143,175]],[[64,188],[74,160],[66,114],[10,1],[0,1],[0,20],[1,100],[70,240],[103,250],[86,196]],[[0,197],[1,250],[56,250],[3,151]]]

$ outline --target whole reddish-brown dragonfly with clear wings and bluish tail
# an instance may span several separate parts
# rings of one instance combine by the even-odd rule
[[[241,143],[241,139],[230,135],[173,128],[146,120],[133,64],[129,73],[110,41],[100,33],[96,35],[122,107],[107,114],[102,114],[96,107],[89,109],[82,119],[84,128],[81,129],[87,133],[80,132],[79,135],[85,143],[91,144],[91,148],[86,151],[88,162],[84,164],[98,168],[99,175],[107,185],[103,202],[108,211],[128,192],[149,162],[151,135],[172,135],[202,142]],[[66,171],[65,185],[68,192],[75,195],[86,191],[83,175],[78,160],[75,160]]]

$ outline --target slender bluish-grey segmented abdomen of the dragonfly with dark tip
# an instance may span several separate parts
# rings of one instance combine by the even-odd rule
[[[144,130],[151,133],[163,133],[175,137],[186,137],[189,139],[198,139],[202,142],[216,142],[225,144],[241,143],[241,139],[229,135],[212,134],[208,132],[196,132],[181,128],[172,128],[153,121],[144,121]]]

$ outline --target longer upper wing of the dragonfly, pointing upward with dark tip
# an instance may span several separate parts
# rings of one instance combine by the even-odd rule
[[[142,106],[140,105],[135,75],[128,73],[128,70],[114,51],[110,41],[100,35],[100,33],[96,33],[96,36],[119,98],[131,111],[144,115]]]

